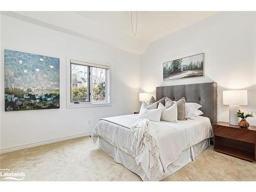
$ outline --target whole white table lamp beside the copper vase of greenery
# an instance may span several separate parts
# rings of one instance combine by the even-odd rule
[[[247,90],[223,91],[223,104],[229,105],[229,124],[238,125],[239,105],[247,105]]]

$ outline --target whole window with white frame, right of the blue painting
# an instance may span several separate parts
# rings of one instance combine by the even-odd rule
[[[109,104],[110,67],[71,59],[69,61],[68,107]]]

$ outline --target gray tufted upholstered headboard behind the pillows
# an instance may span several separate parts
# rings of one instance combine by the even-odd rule
[[[200,109],[211,123],[217,122],[217,83],[205,82],[196,84],[181,84],[179,86],[163,86],[156,88],[156,100],[169,97],[178,101],[181,97],[186,102],[196,102],[202,105]]]

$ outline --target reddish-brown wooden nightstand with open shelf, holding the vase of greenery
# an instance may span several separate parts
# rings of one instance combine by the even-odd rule
[[[214,123],[214,150],[246,161],[256,161],[256,126],[241,128]]]

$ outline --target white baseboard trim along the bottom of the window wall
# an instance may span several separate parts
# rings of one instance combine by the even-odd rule
[[[72,135],[72,136],[68,136],[68,137],[61,137],[61,138],[57,138],[57,139],[40,141],[40,142],[30,143],[30,144],[26,144],[26,145],[19,145],[19,146],[10,147],[10,148],[4,148],[3,150],[0,150],[0,154],[14,152],[14,151],[18,151],[18,150],[24,150],[25,148],[31,148],[31,147],[35,147],[35,146],[50,144],[50,143],[56,143],[59,141],[65,141],[65,140],[75,139],[75,138],[79,138],[79,137],[85,137],[85,136],[91,135],[91,133],[92,132],[82,133],[82,134]]]

